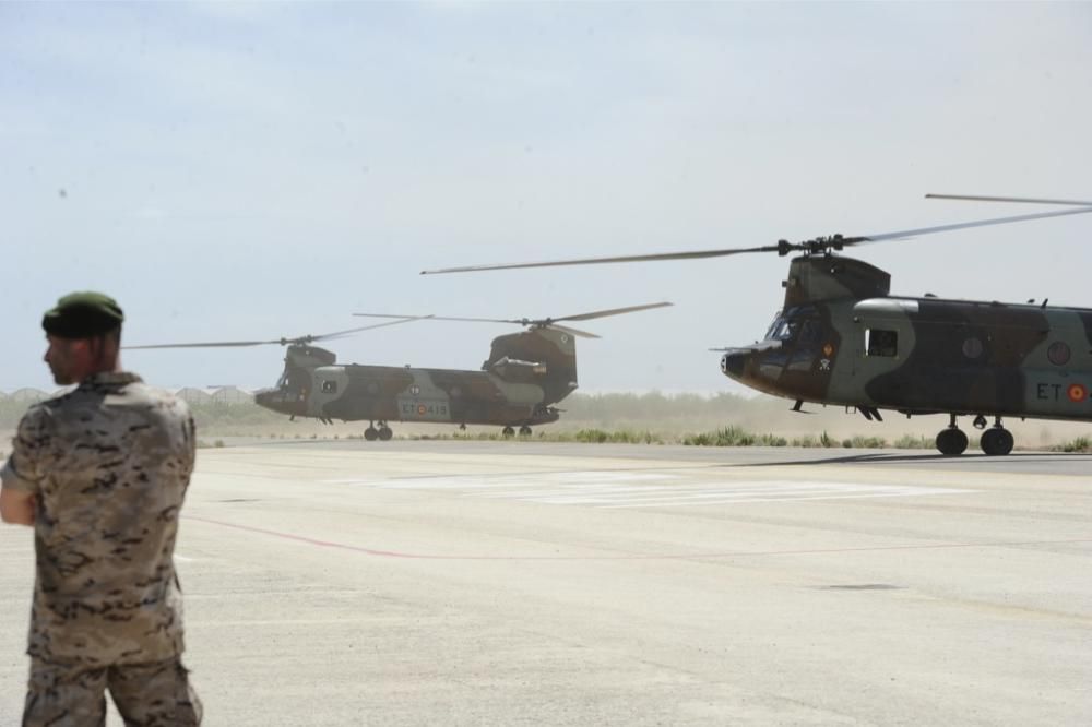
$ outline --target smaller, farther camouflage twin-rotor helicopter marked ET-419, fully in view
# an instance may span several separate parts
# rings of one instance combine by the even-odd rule
[[[391,421],[499,425],[506,437],[531,434],[531,427],[557,421],[553,405],[577,389],[574,337],[597,338],[561,321],[590,321],[670,306],[646,303],[544,319],[459,319],[436,315],[375,315],[393,321],[321,335],[271,341],[127,346],[141,348],[207,348],[229,346],[287,346],[284,372],[275,386],[254,393],[254,402],[295,417],[313,417],[325,424],[367,420],[368,441],[389,440]],[[480,371],[417,369],[392,366],[337,364],[333,351],[313,345],[353,333],[412,321],[462,320],[515,323],[527,330],[494,338]],[[379,425],[378,427],[376,425]]]

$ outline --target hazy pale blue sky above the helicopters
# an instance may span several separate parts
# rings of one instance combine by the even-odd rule
[[[420,277],[749,247],[1092,199],[1090,3],[0,3],[0,390],[50,388],[72,289],[128,343],[352,327],[354,311],[563,315],[584,390],[739,391],[786,260]],[[858,249],[895,294],[1092,307],[1092,215]],[[490,324],[331,344],[476,369]],[[272,384],[275,346],[130,351],[164,385]]]

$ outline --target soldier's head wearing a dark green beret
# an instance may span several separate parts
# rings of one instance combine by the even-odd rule
[[[123,321],[121,307],[102,293],[71,293],[58,300],[41,319],[49,341],[45,360],[54,381],[79,383],[93,373],[117,370]]]

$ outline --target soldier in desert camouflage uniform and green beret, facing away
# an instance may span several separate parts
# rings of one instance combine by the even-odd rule
[[[37,562],[24,727],[198,725],[181,664],[173,552],[193,469],[186,404],[122,371],[121,308],[73,293],[41,325],[73,391],[31,407],[0,470],[0,515],[32,525]]]

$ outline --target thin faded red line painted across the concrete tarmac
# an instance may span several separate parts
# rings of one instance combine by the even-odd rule
[[[209,525],[219,525],[230,527],[236,531],[247,533],[258,533],[282,540],[294,540],[306,543],[320,548],[335,548],[337,550],[349,550],[360,552],[366,556],[378,558],[410,558],[416,560],[700,560],[702,558],[762,558],[770,556],[821,556],[831,553],[850,552],[883,552],[888,550],[951,550],[957,548],[1017,548],[1023,546],[1051,546],[1051,545],[1075,545],[1080,543],[1092,543],[1092,538],[1077,538],[1072,540],[1011,540],[997,543],[937,543],[933,545],[904,545],[904,546],[877,546],[863,548],[817,548],[812,550],[729,550],[727,552],[690,552],[690,553],[631,553],[618,556],[450,556],[434,553],[400,552],[396,550],[378,550],[376,548],[364,548],[361,546],[348,545],[346,543],[334,543],[332,540],[319,540],[302,535],[270,531],[263,527],[251,527],[250,525],[239,525],[236,523],[225,523],[219,520],[207,517],[194,517],[183,515],[183,520],[192,520]]]

